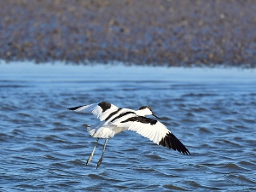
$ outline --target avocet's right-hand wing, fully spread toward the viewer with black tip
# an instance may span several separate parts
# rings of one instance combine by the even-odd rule
[[[124,127],[130,131],[136,131],[143,137],[147,137],[150,141],[172,148],[183,154],[190,154],[189,150],[169,131],[166,125],[155,119],[149,119],[143,116],[135,116],[125,120],[113,121],[111,125]]]

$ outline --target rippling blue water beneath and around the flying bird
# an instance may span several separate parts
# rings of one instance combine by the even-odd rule
[[[189,148],[183,155],[67,108],[151,106]],[[1,191],[256,190],[256,72],[241,69],[0,65]]]

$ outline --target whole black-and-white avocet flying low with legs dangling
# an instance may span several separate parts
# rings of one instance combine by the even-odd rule
[[[145,115],[154,115],[152,109],[148,106],[143,106],[139,110],[132,110],[129,108],[118,108],[109,102],[99,102],[68,109],[75,112],[93,113],[102,121],[99,125],[88,127],[90,135],[97,138],[96,143],[99,138],[106,138],[102,157],[108,139],[126,130],[136,131],[158,145],[172,148],[183,154],[190,154],[189,150],[167,129],[166,125],[161,124],[158,120],[144,117]],[[154,116],[157,117],[156,115]],[[95,149],[96,146],[87,164],[90,162]],[[101,162],[102,158],[99,160],[97,167],[100,166]]]

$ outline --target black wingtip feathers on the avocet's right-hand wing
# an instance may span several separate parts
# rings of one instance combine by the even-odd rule
[[[166,148],[172,148],[173,150],[177,150],[179,153],[190,154],[188,148],[186,148],[183,143],[181,143],[177,137],[175,137],[172,132],[168,132],[166,137],[163,137],[159,143],[160,145]]]

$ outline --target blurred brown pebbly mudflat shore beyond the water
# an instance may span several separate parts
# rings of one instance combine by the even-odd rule
[[[0,0],[3,61],[256,66],[256,1]]]

